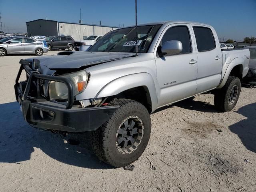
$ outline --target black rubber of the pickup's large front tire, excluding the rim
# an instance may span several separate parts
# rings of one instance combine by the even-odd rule
[[[139,102],[129,99],[115,99],[108,106],[120,106],[112,116],[96,131],[92,132],[92,150],[103,162],[114,167],[123,167],[136,161],[144,152],[151,132],[148,110]],[[144,134],[138,147],[130,154],[122,154],[116,146],[116,133],[120,124],[129,116],[142,120]]]

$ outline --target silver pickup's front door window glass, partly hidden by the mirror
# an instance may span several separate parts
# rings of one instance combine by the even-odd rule
[[[169,28],[165,32],[160,45],[162,45],[166,41],[172,41],[172,40],[180,41],[182,43],[181,53],[190,53],[192,51],[188,27],[175,26],[175,27]]]

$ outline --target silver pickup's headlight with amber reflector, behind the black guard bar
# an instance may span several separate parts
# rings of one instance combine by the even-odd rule
[[[86,71],[79,71],[70,73],[67,75],[60,75],[59,77],[68,78],[71,80],[74,96],[84,91],[86,87],[86,83],[88,80],[88,72]],[[49,84],[49,96],[50,100],[55,99],[67,99],[68,98],[68,88],[66,84],[62,82],[50,81]]]

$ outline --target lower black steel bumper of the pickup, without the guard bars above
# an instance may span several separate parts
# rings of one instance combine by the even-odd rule
[[[39,129],[65,132],[85,132],[99,128],[119,106],[66,109],[63,104],[51,101],[22,101],[22,113],[26,122]]]

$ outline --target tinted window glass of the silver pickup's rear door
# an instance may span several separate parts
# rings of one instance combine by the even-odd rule
[[[193,27],[193,30],[196,36],[197,50],[199,52],[210,51],[216,48],[214,36],[210,28]]]

